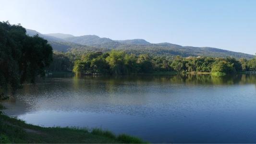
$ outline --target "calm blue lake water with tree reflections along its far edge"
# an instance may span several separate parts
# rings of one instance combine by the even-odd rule
[[[100,127],[151,143],[256,143],[256,75],[57,75],[3,104],[45,127]]]

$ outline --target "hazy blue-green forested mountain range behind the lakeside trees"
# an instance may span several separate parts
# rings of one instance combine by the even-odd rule
[[[128,53],[134,54],[151,54],[151,55],[180,55],[188,56],[208,56],[208,57],[234,57],[252,59],[254,55],[241,52],[234,52],[219,48],[209,47],[190,47],[180,46],[171,43],[152,44],[144,39],[129,39],[129,40],[112,40],[110,38],[99,37],[96,35],[73,36],[69,34],[41,34],[35,30],[27,29],[27,34],[39,36],[49,40],[49,44],[54,50],[67,52],[72,49],[79,50],[100,50],[109,51],[110,49],[120,49]]]

